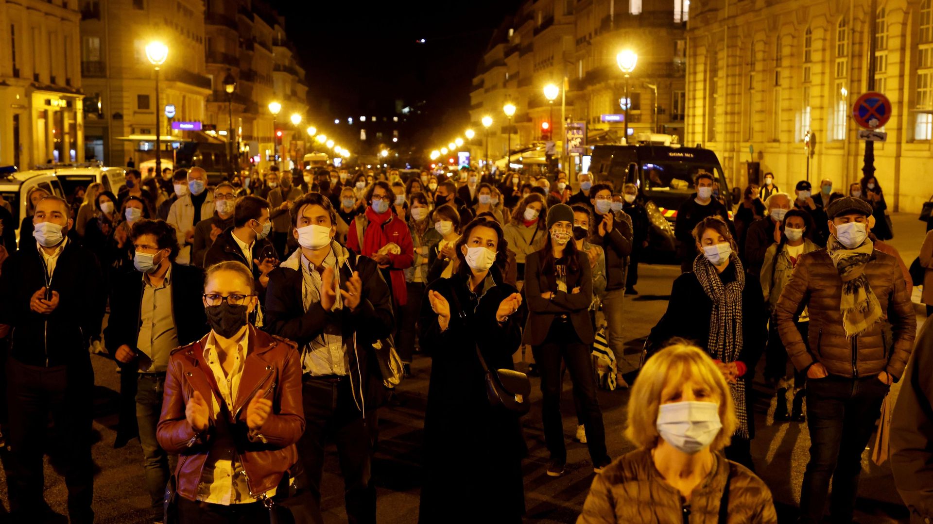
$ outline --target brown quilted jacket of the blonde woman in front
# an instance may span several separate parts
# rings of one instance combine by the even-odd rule
[[[729,479],[728,524],[777,522],[771,490],[745,466],[716,455],[716,467],[690,496],[690,524],[717,524],[719,503]],[[654,466],[649,449],[622,455],[592,481],[577,524],[679,524],[684,521],[680,492]]]

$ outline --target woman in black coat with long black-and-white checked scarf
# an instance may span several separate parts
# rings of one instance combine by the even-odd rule
[[[648,335],[648,356],[678,337],[692,340],[713,357],[729,381],[739,420],[726,457],[754,471],[751,378],[767,339],[761,285],[745,278],[735,241],[721,218],[704,218],[693,228],[693,238],[700,255],[693,270],[674,281],[667,311]]]

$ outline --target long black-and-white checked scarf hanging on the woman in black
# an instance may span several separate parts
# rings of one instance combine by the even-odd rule
[[[724,363],[735,362],[742,351],[742,290],[745,289],[745,269],[735,254],[729,257],[735,269],[735,280],[722,283],[716,267],[703,255],[693,261],[693,274],[703,286],[703,291],[713,301],[709,316],[709,338],[706,352]],[[738,379],[729,384],[735,416],[739,420],[735,434],[748,438],[748,420],[745,409],[745,380]]]

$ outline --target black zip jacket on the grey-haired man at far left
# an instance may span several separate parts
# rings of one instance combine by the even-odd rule
[[[59,294],[49,314],[29,307],[46,286],[45,263],[35,247],[24,244],[0,271],[0,324],[12,327],[11,353],[28,365],[87,365],[88,342],[101,333],[106,295],[97,257],[69,240],[59,255],[49,288]]]

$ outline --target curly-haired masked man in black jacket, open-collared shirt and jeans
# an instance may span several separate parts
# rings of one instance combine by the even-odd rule
[[[136,222],[131,240],[136,270],[115,276],[104,341],[122,369],[118,444],[120,434],[138,426],[149,514],[160,520],[170,475],[168,455],[156,440],[165,372],[169,354],[207,329],[201,303],[204,272],[174,263],[178,239],[163,220]]]

